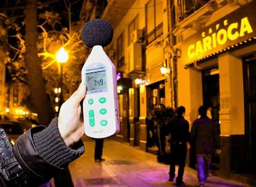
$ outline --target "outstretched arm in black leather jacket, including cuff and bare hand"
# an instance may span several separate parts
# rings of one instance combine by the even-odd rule
[[[48,127],[39,125],[27,130],[13,148],[0,129],[1,187],[40,186],[84,153],[80,102],[85,92],[85,84],[80,84]]]

